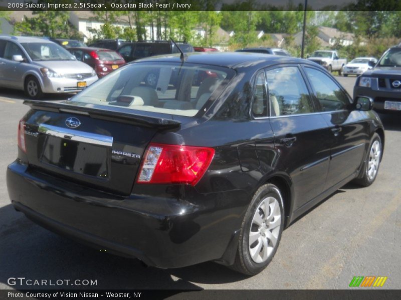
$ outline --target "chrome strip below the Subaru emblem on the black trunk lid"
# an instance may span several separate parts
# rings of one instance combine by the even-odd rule
[[[67,138],[76,141],[82,141],[95,145],[109,146],[113,145],[113,137],[91,132],[79,131],[69,128],[62,128],[48,124],[39,124],[39,132],[61,138]]]

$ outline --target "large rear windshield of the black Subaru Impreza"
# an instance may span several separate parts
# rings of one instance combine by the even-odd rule
[[[234,75],[234,70],[218,66],[138,62],[110,73],[71,100],[194,116]]]

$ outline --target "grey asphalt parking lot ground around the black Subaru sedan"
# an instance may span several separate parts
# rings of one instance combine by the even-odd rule
[[[352,94],[355,77],[337,78]],[[401,288],[400,116],[382,117],[385,149],[376,181],[337,190],[283,232],[276,256],[262,273],[245,277],[213,262],[144,267],[136,259],[58,236],[15,211],[6,168],[16,157],[18,121],[28,111],[23,99],[23,92],[0,90],[0,288],[39,288],[8,284],[9,277],[26,277],[97,280],[96,286],[74,288],[343,289],[353,276],[387,276],[379,288]]]

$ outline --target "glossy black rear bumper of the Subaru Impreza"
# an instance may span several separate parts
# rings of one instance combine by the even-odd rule
[[[219,207],[220,193],[196,195],[204,206],[168,197],[122,197],[30,170],[18,160],[8,167],[7,186],[17,210],[99,250],[161,268],[234,262],[244,207]]]

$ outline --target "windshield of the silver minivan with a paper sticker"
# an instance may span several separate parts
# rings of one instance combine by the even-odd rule
[[[74,55],[56,43],[26,42],[21,43],[34,61],[41,60],[75,60]]]

